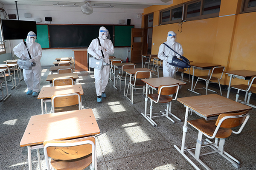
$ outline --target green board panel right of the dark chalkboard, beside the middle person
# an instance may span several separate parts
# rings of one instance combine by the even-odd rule
[[[131,28],[134,26],[114,26],[114,46],[131,46]]]

